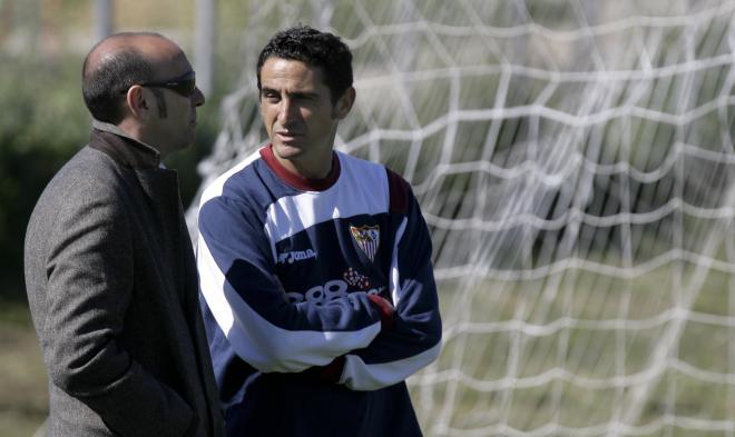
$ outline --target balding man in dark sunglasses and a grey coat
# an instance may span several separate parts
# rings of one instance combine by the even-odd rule
[[[204,96],[182,49],[119,33],[82,69],[89,145],[49,182],[26,286],[49,375],[49,436],[220,436],[178,180]]]

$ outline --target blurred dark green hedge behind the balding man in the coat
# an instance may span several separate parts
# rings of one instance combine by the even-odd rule
[[[36,200],[53,173],[89,140],[81,98],[81,56],[0,54],[0,300],[24,300],[23,238]],[[196,143],[167,165],[179,171],[187,206],[199,185],[197,162],[218,131],[217,103],[199,109]]]

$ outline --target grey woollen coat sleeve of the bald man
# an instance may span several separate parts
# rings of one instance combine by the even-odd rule
[[[98,182],[69,193],[49,232],[39,336],[50,379],[120,436],[180,436],[196,420],[192,408],[118,341],[136,236],[115,190]]]

